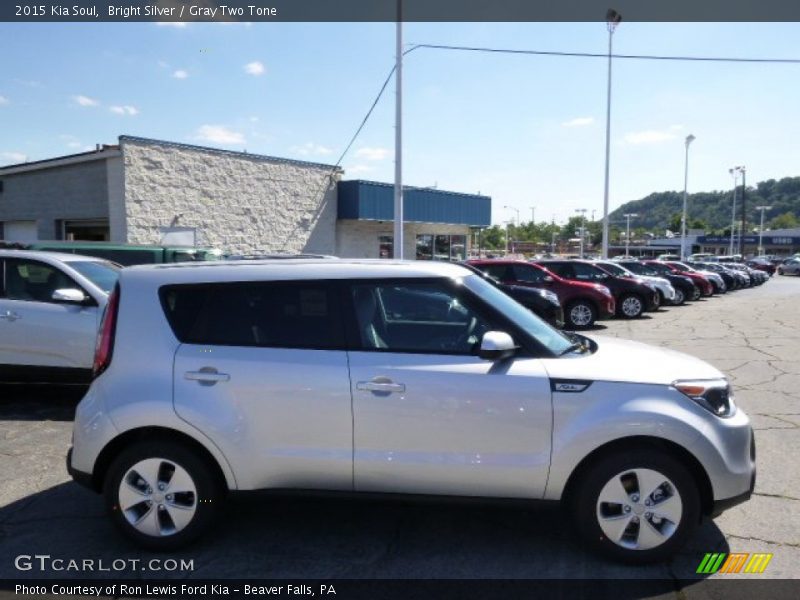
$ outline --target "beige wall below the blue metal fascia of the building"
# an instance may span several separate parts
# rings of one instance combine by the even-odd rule
[[[442,223],[404,223],[403,257],[416,258],[417,235],[466,235],[469,243],[469,227]],[[394,236],[392,221],[356,221],[342,219],[336,225],[336,256],[341,258],[380,258],[378,238]]]

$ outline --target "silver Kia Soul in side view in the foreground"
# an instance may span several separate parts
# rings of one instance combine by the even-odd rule
[[[747,500],[725,377],[559,332],[451,264],[125,269],[67,458],[141,545],[197,538],[228,490],[561,501],[585,540],[663,560]]]

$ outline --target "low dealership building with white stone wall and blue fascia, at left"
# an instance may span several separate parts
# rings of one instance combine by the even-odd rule
[[[333,165],[121,136],[0,168],[0,239],[190,243],[226,253],[393,255],[394,188]],[[406,258],[458,260],[491,198],[404,188]]]

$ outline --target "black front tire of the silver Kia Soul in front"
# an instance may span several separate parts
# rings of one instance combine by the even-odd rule
[[[590,468],[583,470],[583,481],[573,488],[571,498],[574,523],[585,541],[602,556],[631,564],[664,561],[686,543],[700,522],[701,505],[697,482],[679,460],[666,452],[636,450],[607,454]],[[635,502],[633,494],[648,492],[638,490],[640,484],[635,474],[632,476],[634,470],[649,476],[651,482],[663,479],[664,484],[657,487],[649,497],[640,497]],[[656,472],[660,477],[656,478],[650,472]],[[600,496],[606,485],[613,490],[616,482],[622,483],[619,489],[629,494],[624,500],[626,504],[618,508],[613,502],[600,503]],[[670,502],[672,504],[669,506],[674,510],[677,506],[674,502],[675,496],[680,505],[677,522],[663,516],[669,512],[669,508],[663,509],[661,513],[658,509],[659,506],[667,507]],[[655,502],[652,500],[654,497]],[[648,501],[651,503],[649,506],[645,505]],[[625,506],[629,509],[625,509]],[[625,512],[626,510],[629,512]],[[606,530],[601,526],[603,513],[606,516],[605,527],[611,526],[612,531],[622,531],[619,541],[609,539]],[[623,529],[626,519],[628,525]],[[646,527],[647,531],[641,532],[641,527]],[[636,548],[640,542],[647,545],[652,540],[661,541],[646,549]]]

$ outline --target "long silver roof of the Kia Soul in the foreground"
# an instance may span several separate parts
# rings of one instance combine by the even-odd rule
[[[137,265],[123,280],[158,283],[213,283],[253,280],[395,279],[474,275],[454,263],[382,259],[265,259]]]

